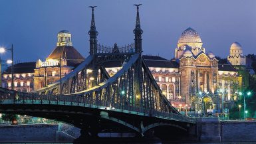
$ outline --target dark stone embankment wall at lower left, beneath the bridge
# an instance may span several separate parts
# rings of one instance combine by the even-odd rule
[[[56,124],[0,125],[0,142],[56,142]]]

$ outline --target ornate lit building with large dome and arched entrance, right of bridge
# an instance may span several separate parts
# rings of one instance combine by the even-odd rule
[[[232,56],[242,56],[240,44],[231,47]],[[241,78],[231,64],[218,64],[213,52],[205,53],[197,31],[189,27],[182,33],[175,58],[180,64],[180,96],[172,100],[172,104],[188,105],[195,111],[204,112],[221,111],[230,106],[235,94],[232,84],[240,84]],[[219,103],[219,90],[225,90],[224,106]]]

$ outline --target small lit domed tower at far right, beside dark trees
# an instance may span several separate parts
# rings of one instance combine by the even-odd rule
[[[230,46],[230,54],[227,60],[233,66],[245,66],[245,56],[243,56],[243,48],[239,42],[233,42]]]

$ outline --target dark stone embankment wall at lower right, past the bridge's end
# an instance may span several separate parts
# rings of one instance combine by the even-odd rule
[[[256,142],[256,121],[200,121],[201,142]]]

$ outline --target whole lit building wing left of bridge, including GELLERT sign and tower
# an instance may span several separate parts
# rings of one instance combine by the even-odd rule
[[[31,92],[43,88],[64,77],[83,60],[84,57],[72,46],[71,34],[60,31],[57,47],[45,61],[14,64],[14,90]],[[5,70],[2,79],[3,87],[11,89],[11,67]]]

